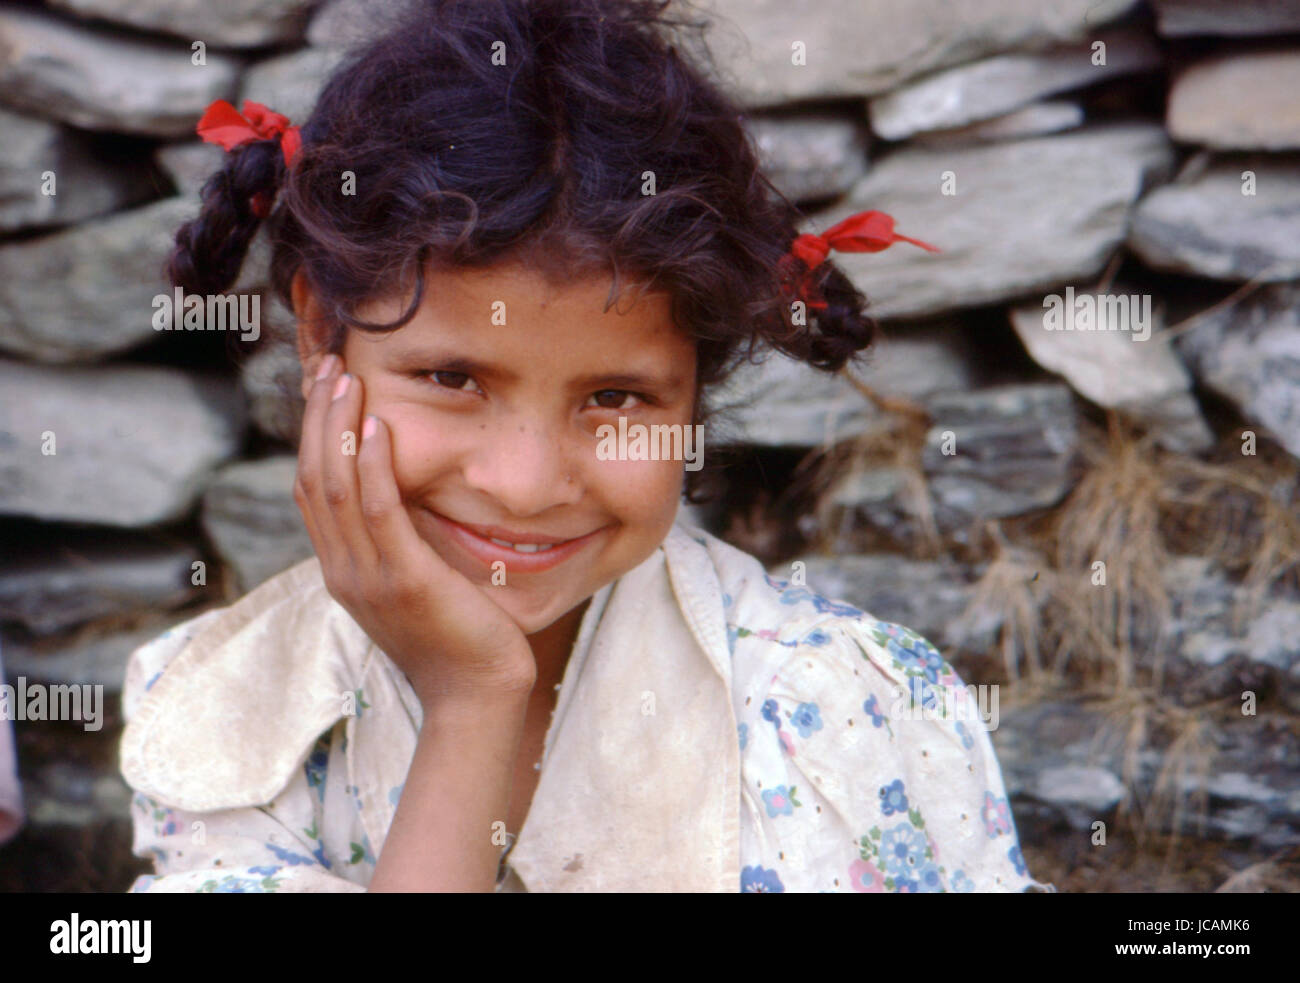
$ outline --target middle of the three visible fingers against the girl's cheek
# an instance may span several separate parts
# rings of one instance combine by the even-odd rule
[[[378,550],[361,518],[361,489],[356,476],[356,456],[361,442],[361,380],[343,373],[330,390],[321,428],[321,498],[326,514],[318,516],[326,537],[343,551],[354,580],[365,581],[378,572]]]

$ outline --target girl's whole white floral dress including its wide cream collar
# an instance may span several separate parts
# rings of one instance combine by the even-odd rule
[[[263,696],[250,674],[265,677]],[[719,697],[701,703],[710,680]],[[292,693],[289,709],[277,692]],[[640,714],[618,706],[624,693]],[[968,693],[907,628],[676,525],[584,616],[524,827],[532,845],[493,832],[498,889],[1054,891],[1026,869]],[[155,863],[131,891],[365,889],[421,711],[316,560],[138,649],[124,711],[134,849]]]

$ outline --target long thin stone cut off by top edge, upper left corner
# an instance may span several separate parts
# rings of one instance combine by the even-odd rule
[[[78,17],[202,40],[214,47],[283,44],[303,36],[316,0],[49,0]]]

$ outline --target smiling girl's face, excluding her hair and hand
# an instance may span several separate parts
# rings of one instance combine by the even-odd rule
[[[647,293],[623,313],[602,312],[608,289],[607,280],[549,286],[520,267],[426,274],[407,325],[350,330],[339,352],[361,382],[364,412],[391,432],[417,534],[525,635],[645,560],[681,498],[681,460],[597,455],[597,428],[618,429],[620,416],[629,443],[638,424],[676,424],[685,436],[696,399],[696,346],[668,298]],[[298,294],[295,285],[295,304]],[[394,320],[408,299],[356,313]],[[629,303],[630,291],[619,306]],[[304,390],[318,359],[304,355]],[[489,534],[582,541],[551,555]]]

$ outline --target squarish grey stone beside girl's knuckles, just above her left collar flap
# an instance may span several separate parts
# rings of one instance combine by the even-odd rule
[[[312,541],[294,502],[298,459],[281,455],[221,471],[203,495],[203,529],[234,570],[240,590],[312,555]]]

